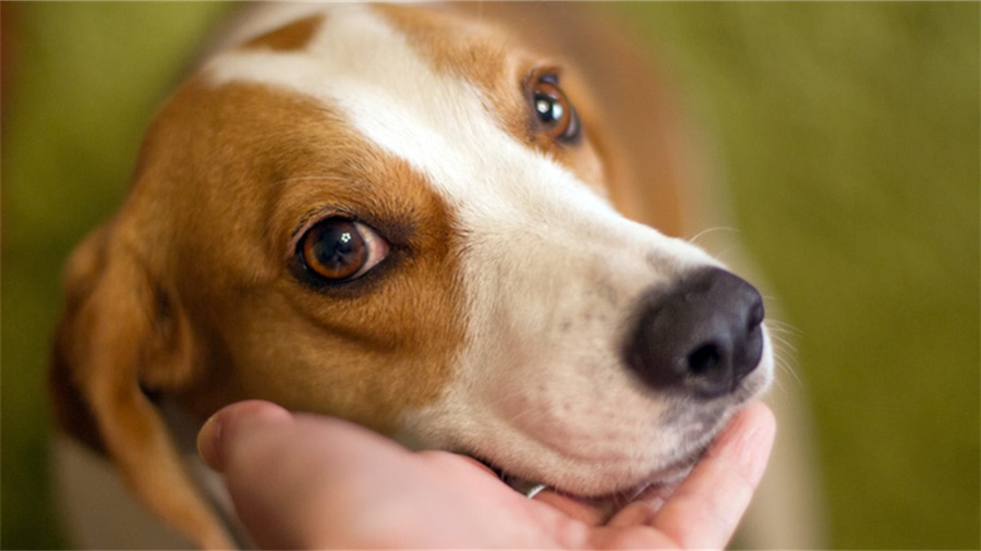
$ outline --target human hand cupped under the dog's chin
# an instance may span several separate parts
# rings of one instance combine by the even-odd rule
[[[775,428],[770,409],[751,404],[666,501],[647,492],[602,526],[588,503],[547,491],[530,500],[469,457],[410,452],[356,425],[267,402],[218,412],[198,449],[267,549],[719,549],[763,476]]]

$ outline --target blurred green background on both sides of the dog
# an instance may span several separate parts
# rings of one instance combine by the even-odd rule
[[[62,262],[230,8],[0,4],[4,549],[66,546],[44,391]],[[604,9],[674,88],[790,328],[774,392],[810,412],[824,544],[981,548],[981,4]]]

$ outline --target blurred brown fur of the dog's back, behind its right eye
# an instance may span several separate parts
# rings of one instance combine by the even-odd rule
[[[698,211],[699,174],[678,106],[652,65],[598,2],[455,2],[452,10],[500,25],[524,47],[565,62],[606,187],[628,218],[681,236]],[[595,107],[585,103],[593,98]]]

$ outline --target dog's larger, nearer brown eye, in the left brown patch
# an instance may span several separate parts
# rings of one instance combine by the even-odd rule
[[[367,225],[346,218],[317,222],[296,244],[304,269],[329,281],[360,278],[388,255],[388,243]]]

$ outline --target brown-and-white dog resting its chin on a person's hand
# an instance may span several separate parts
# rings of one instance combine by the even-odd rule
[[[763,299],[679,237],[670,109],[591,17],[246,12],[65,269],[56,418],[166,523],[235,543],[179,450],[243,399],[603,500],[770,385]]]

